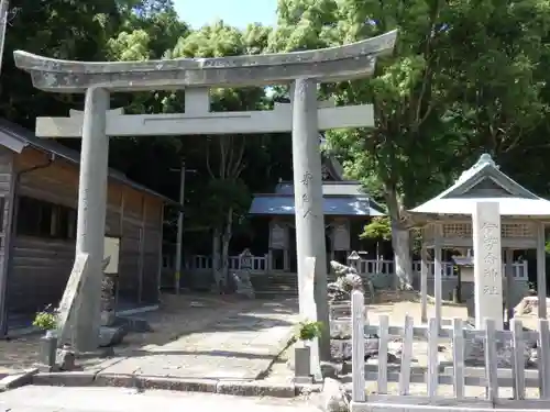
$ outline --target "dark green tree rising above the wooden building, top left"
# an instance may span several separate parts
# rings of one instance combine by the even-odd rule
[[[61,59],[101,60],[107,38],[120,24],[116,0],[18,0],[10,2],[0,113],[34,129],[37,115],[66,115],[81,96],[46,93],[33,88],[28,74],[15,68],[13,51]]]

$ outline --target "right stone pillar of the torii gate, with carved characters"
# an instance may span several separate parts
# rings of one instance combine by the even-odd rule
[[[317,82],[297,79],[293,97],[293,167],[296,214],[296,252],[300,313],[307,313],[302,297],[307,276],[306,257],[316,258],[315,301],[317,321],[322,322],[319,339],[321,360],[330,360],[329,307],[327,299],[327,252],[322,199],[321,153],[319,147]],[[314,321],[314,320],[311,320]]]

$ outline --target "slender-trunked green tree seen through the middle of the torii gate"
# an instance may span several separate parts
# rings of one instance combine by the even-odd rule
[[[172,57],[222,57],[257,54],[265,49],[270,29],[249,25],[242,32],[218,21],[182,37]],[[212,111],[245,111],[265,108],[263,88],[211,89]],[[167,100],[168,111],[184,111],[180,93]],[[193,138],[193,137],[187,137]],[[199,147],[206,154],[205,164],[210,181],[208,197],[200,210],[200,219],[212,230],[213,274],[218,286],[227,285],[229,246],[235,225],[243,223],[250,205],[250,192],[242,180],[248,158],[262,156],[264,140],[256,136],[198,136]],[[206,212],[207,211],[207,212]],[[197,211],[198,212],[198,211]],[[205,213],[206,212],[206,213]]]

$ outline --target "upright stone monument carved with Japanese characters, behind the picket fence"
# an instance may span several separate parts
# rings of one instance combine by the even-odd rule
[[[474,246],[475,324],[484,319],[503,327],[503,264],[501,213],[496,202],[479,202],[472,216]],[[480,327],[481,329],[481,327]]]

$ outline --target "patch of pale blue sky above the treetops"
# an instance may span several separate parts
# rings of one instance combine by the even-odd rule
[[[174,0],[179,18],[199,29],[221,19],[244,29],[249,23],[273,25],[277,0]]]

